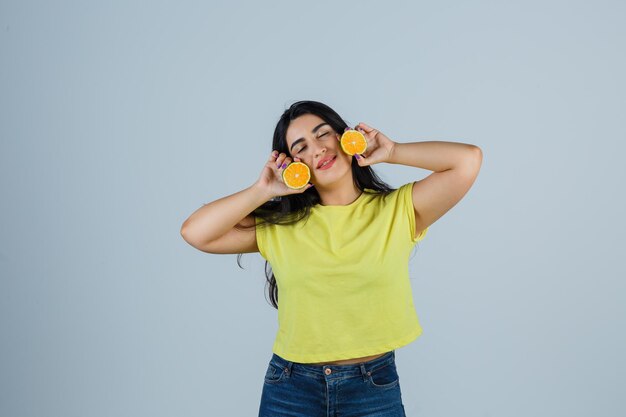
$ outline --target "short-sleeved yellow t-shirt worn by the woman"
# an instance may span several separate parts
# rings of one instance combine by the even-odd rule
[[[274,353],[293,362],[350,359],[422,333],[408,261],[428,228],[414,236],[412,187],[387,196],[366,189],[345,206],[317,204],[308,220],[256,228],[278,286]]]

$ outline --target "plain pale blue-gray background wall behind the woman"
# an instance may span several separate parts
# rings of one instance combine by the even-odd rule
[[[264,261],[179,231],[304,99],[483,150],[410,261],[409,416],[622,415],[624,2],[106,3],[0,3],[1,416],[256,415]]]

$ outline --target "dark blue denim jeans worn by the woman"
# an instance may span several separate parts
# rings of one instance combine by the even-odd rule
[[[406,417],[395,351],[351,365],[307,365],[275,353],[259,417]]]

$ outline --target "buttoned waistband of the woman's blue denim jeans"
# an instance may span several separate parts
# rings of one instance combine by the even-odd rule
[[[344,378],[356,375],[367,375],[370,372],[390,363],[394,363],[396,358],[395,350],[391,350],[384,355],[367,362],[360,362],[347,365],[310,365],[300,362],[292,362],[276,353],[272,353],[270,363],[282,368],[286,373],[297,372],[309,376],[321,376],[325,378]]]

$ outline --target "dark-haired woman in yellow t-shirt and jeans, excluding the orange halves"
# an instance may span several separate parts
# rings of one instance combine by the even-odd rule
[[[273,269],[268,282],[279,329],[259,416],[405,415],[395,349],[422,333],[409,255],[470,189],[482,151],[466,143],[396,142],[359,123],[368,147],[353,157],[340,145],[347,129],[323,103],[294,103],[278,121],[257,181],[205,204],[181,228],[201,251],[259,252],[266,274],[268,263]],[[292,161],[311,170],[310,184],[299,190],[281,177]],[[379,163],[433,173],[393,189],[372,170]]]

